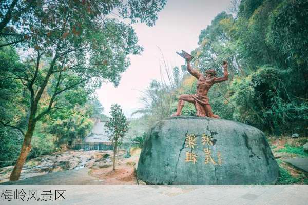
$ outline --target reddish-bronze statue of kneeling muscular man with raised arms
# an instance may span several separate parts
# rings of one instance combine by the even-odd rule
[[[208,69],[205,71],[206,76],[201,74],[198,70],[192,69],[190,66],[190,61],[194,56],[189,55],[185,51],[182,50],[182,53],[178,53],[180,56],[185,58],[187,62],[187,70],[188,72],[198,79],[197,82],[197,94],[195,95],[181,95],[179,97],[179,103],[177,112],[173,116],[181,115],[182,108],[184,106],[184,102],[187,101],[188,103],[193,103],[197,110],[196,115],[198,117],[212,117],[212,118],[219,118],[218,115],[214,115],[210,105],[209,99],[207,97],[208,90],[213,86],[215,83],[220,83],[223,81],[228,80],[228,63],[223,61],[223,68],[224,68],[224,76],[223,77],[216,77],[216,72],[214,69]]]

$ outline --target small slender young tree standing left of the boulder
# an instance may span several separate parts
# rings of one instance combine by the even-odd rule
[[[111,105],[110,108],[110,119],[106,122],[105,126],[107,127],[107,134],[109,141],[113,145],[113,158],[112,158],[112,170],[115,170],[115,163],[118,159],[119,147],[122,144],[123,137],[128,131],[128,122],[123,114],[122,108],[118,104]]]

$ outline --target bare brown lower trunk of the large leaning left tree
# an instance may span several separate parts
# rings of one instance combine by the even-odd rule
[[[23,166],[25,164],[25,161],[27,159],[27,156],[31,150],[31,139],[33,136],[34,128],[35,128],[36,122],[34,122],[31,117],[28,122],[28,130],[25,134],[23,146],[21,149],[20,156],[18,157],[15,167],[10,175],[10,181],[17,181],[19,180],[21,176],[21,171],[23,169]]]

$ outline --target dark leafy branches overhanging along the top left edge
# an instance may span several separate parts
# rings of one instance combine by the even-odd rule
[[[69,11],[78,19],[74,24],[70,24],[74,34],[83,30],[81,24],[85,16],[103,19],[107,15],[113,15],[115,18],[130,19],[131,23],[145,22],[152,26],[165,2],[166,0],[4,0],[0,3],[0,37],[7,42],[0,44],[0,47],[28,42],[29,39],[37,37],[37,28],[33,27],[33,21],[41,20],[44,24],[52,21],[57,24],[57,20],[61,19],[59,14],[67,14]],[[45,35],[50,34],[46,32]]]

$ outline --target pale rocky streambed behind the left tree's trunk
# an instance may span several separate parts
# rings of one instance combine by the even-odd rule
[[[51,172],[61,172],[80,168],[106,168],[112,166],[110,155],[111,150],[107,151],[84,151],[67,150],[55,152],[52,155],[28,160],[22,170],[20,179],[32,176],[48,174]],[[119,158],[123,159],[124,152],[120,152]],[[0,183],[9,180],[13,166],[0,168]]]

